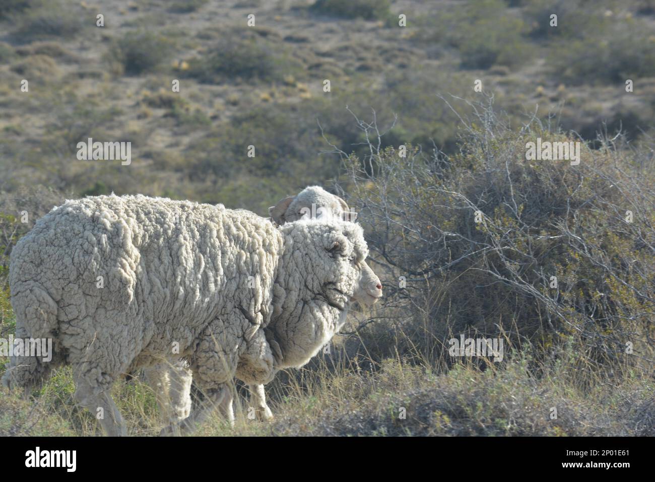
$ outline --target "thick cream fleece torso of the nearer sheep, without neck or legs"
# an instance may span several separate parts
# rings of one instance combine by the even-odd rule
[[[47,291],[66,348],[105,337],[130,358],[168,352],[173,342],[185,350],[212,319],[235,310],[251,320],[233,333],[266,324],[281,246],[271,223],[250,212],[97,196],[37,221],[12,253],[10,283],[19,298],[34,284]]]

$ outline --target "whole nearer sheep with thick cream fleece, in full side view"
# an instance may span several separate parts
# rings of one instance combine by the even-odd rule
[[[77,403],[98,414],[106,434],[126,435],[113,381],[186,360],[205,399],[183,432],[214,407],[233,418],[229,381],[263,385],[304,365],[352,301],[381,297],[367,253],[361,227],[335,219],[276,229],[220,204],[69,200],[39,219],[10,259],[16,337],[52,339],[52,361],[13,356],[3,384],[29,389],[69,364]]]

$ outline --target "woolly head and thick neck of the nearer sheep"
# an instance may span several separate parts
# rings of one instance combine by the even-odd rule
[[[299,367],[339,331],[353,301],[372,305],[382,297],[382,285],[366,264],[359,225],[301,219],[280,231],[284,253],[270,329],[280,347],[278,367]]]

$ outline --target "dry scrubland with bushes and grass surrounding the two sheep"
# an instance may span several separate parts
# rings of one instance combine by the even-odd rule
[[[373,107],[381,130],[398,122],[379,145],[369,129],[369,146],[346,104],[367,122]],[[7,253],[64,196],[264,214],[337,181],[384,304],[278,375],[274,422],[248,419],[241,397],[234,429],[202,434],[653,435],[654,108],[649,0],[0,0],[1,335],[15,324]],[[317,120],[344,155],[318,154],[333,147]],[[527,141],[569,130],[586,141],[580,166],[525,160]],[[132,164],[77,161],[88,137],[132,141]],[[502,337],[504,361],[449,356],[460,333]],[[96,434],[73,390],[62,369],[29,402],[2,392],[0,434]],[[130,433],[157,434],[149,389],[115,390]]]

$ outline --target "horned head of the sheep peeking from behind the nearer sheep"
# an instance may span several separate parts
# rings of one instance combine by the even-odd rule
[[[298,219],[331,217],[339,217],[347,221],[357,219],[357,213],[350,211],[345,200],[328,193],[319,186],[310,186],[303,189],[297,196],[280,199],[278,204],[269,208],[269,215],[278,225]]]

